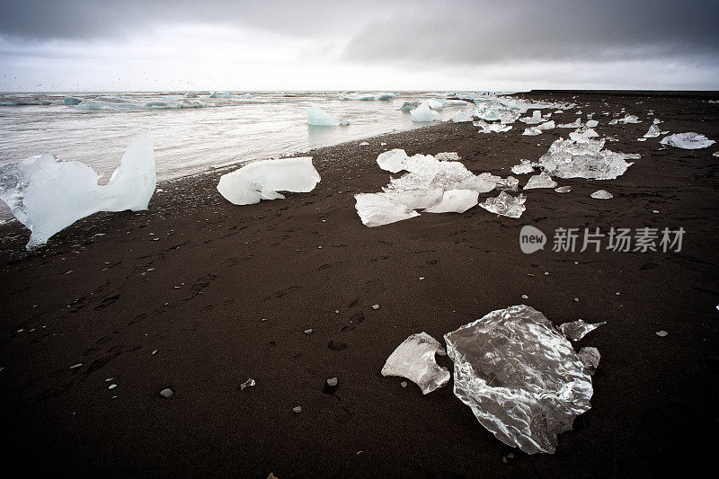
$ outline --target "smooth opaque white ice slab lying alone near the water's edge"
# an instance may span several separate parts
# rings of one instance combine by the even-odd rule
[[[223,174],[217,191],[235,205],[252,205],[260,200],[284,199],[278,191],[307,193],[320,182],[311,156],[259,160]]]

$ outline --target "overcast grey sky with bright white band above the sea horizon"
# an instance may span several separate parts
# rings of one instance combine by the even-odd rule
[[[719,89],[717,0],[0,0],[0,91]]]

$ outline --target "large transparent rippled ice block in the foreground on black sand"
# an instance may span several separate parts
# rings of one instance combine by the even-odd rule
[[[455,362],[454,394],[505,444],[554,453],[557,434],[591,407],[581,359],[532,307],[493,311],[444,339]]]

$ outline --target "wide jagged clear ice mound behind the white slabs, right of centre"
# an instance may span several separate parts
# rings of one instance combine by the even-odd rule
[[[558,138],[539,165],[545,173],[559,178],[588,178],[590,180],[614,180],[631,166],[626,159],[638,159],[640,155],[615,153],[604,148],[604,139],[582,138],[581,141]]]

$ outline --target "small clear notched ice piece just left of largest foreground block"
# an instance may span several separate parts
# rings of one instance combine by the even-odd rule
[[[446,385],[449,381],[447,368],[440,368],[434,355],[445,356],[439,341],[427,333],[413,334],[387,358],[382,376],[406,377],[422,389],[426,395]]]

